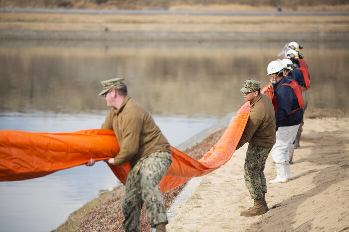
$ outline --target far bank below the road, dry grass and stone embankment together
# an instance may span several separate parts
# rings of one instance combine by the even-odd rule
[[[59,12],[0,12],[0,40],[272,42],[292,38],[302,42],[327,42],[347,41],[349,37],[347,12],[341,15],[281,15],[271,12],[253,15],[256,13],[253,11],[248,12],[250,15],[215,15],[198,14],[205,11],[194,14],[192,9],[188,10],[193,13],[190,15],[156,14],[169,12],[161,10],[131,11],[149,14]]]

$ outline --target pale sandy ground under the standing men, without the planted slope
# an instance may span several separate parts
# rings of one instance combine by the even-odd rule
[[[168,232],[349,231],[348,128],[348,118],[307,118],[291,165],[293,179],[268,184],[271,209],[256,217],[240,216],[253,205],[243,179],[243,146],[223,167],[202,177],[184,204],[175,202]],[[275,174],[270,155],[267,181]]]

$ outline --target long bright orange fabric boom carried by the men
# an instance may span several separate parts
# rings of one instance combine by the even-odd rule
[[[246,126],[250,112],[247,102],[236,113],[214,145],[200,160],[171,147],[172,164],[160,182],[161,190],[171,190],[192,177],[203,176],[228,162]],[[120,148],[112,130],[96,129],[73,133],[31,133],[0,131],[0,181],[42,177],[58,170],[115,157]],[[117,178],[126,183],[129,163],[109,165]]]

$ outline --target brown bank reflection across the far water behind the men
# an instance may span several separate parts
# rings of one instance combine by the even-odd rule
[[[152,113],[223,116],[243,103],[239,89],[244,79],[268,83],[266,66],[283,45],[0,47],[0,111],[105,109],[97,97],[100,81],[122,77],[130,95]],[[309,107],[348,108],[345,95],[334,95],[348,86],[348,49],[306,45]]]

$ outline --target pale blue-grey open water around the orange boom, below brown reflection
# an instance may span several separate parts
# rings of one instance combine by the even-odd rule
[[[100,128],[106,113],[0,113],[0,129],[73,132]],[[154,115],[154,119],[173,146],[216,121],[214,117],[158,115]],[[47,232],[55,229],[70,213],[97,197],[100,190],[111,190],[119,184],[104,162],[31,180],[0,182],[0,232]]]

